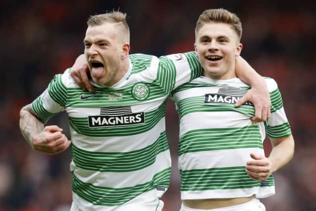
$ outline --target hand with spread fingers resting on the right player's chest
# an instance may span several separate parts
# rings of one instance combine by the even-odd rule
[[[252,121],[264,122],[270,118],[271,101],[266,85],[262,89],[252,87],[238,100],[235,107],[239,107],[247,101],[252,102],[255,106],[255,116],[251,118]]]

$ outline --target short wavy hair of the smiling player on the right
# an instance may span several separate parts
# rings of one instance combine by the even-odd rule
[[[202,14],[200,14],[197,20],[197,26],[195,30],[196,36],[198,30],[200,30],[205,23],[211,21],[230,24],[232,26],[232,29],[237,33],[238,41],[240,42],[242,34],[241,21],[236,14],[229,12],[228,10],[223,8],[207,9]]]

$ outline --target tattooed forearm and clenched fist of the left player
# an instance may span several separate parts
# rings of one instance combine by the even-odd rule
[[[70,141],[58,126],[46,126],[34,114],[32,105],[24,106],[20,111],[20,130],[33,150],[47,154],[57,154],[66,150]]]

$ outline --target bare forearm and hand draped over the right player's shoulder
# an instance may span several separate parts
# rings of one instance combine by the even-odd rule
[[[236,104],[236,107],[250,101],[255,106],[253,121],[263,122],[270,118],[271,101],[265,80],[241,57],[236,59],[236,75],[251,89]]]

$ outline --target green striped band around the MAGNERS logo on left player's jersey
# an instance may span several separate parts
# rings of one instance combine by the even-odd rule
[[[79,134],[92,137],[128,136],[146,132],[155,127],[165,116],[166,100],[157,110],[145,113],[145,123],[128,126],[89,128],[88,118],[69,117],[71,127]]]

